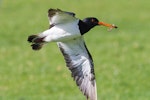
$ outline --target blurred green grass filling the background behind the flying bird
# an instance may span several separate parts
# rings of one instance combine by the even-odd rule
[[[49,27],[47,10],[115,23],[85,35],[101,100],[149,100],[149,0],[1,0],[0,100],[84,100],[55,43],[35,52],[28,35]],[[98,99],[98,100],[99,100]]]

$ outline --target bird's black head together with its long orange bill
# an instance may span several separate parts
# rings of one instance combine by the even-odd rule
[[[97,18],[95,17],[88,17],[83,19],[83,22],[85,22],[90,28],[93,28],[94,26],[98,26],[98,25],[102,25],[102,26],[106,26],[109,28],[117,28],[117,26],[113,25],[113,24],[108,24],[105,22],[100,22]]]

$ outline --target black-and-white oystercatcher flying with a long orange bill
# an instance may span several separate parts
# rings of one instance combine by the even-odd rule
[[[109,28],[117,28],[117,26],[100,22],[95,17],[80,20],[76,18],[75,13],[58,8],[48,10],[48,20],[49,29],[30,35],[27,41],[32,43],[33,50],[40,50],[44,44],[56,42],[76,85],[87,100],[97,100],[94,63],[85,44],[84,34],[95,26]]]

